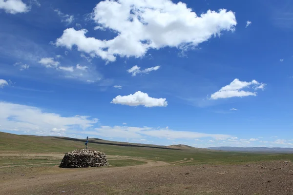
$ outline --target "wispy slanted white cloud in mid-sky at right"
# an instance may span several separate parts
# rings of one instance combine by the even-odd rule
[[[246,82],[240,81],[238,78],[235,78],[229,85],[222,87],[219,91],[212,94],[210,96],[210,99],[256,96],[256,92],[243,91],[241,89],[252,87],[254,90],[263,90],[265,86],[266,84],[259,83],[256,80]]]

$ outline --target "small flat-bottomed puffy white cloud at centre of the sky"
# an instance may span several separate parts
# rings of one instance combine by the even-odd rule
[[[141,91],[128,96],[117,96],[111,101],[111,103],[128,106],[143,105],[145,107],[166,107],[168,105],[166,98],[151,98],[148,94]]]

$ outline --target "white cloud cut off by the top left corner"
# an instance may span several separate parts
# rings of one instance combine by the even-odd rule
[[[22,0],[0,0],[0,9],[6,13],[17,14],[29,12],[29,7]]]

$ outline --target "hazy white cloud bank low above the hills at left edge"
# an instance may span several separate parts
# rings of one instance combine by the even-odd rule
[[[40,108],[0,102],[0,130],[21,131],[39,135],[62,135],[62,132],[81,131],[92,127],[97,118],[88,116],[62,117],[43,112]]]

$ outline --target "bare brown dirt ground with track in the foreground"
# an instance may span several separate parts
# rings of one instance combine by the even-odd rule
[[[0,194],[293,195],[291,162],[182,166],[181,163],[193,159],[166,163],[131,156],[111,158],[135,159],[147,163],[131,167],[82,169],[54,166],[45,171],[42,166],[21,167],[18,171],[0,175]]]

